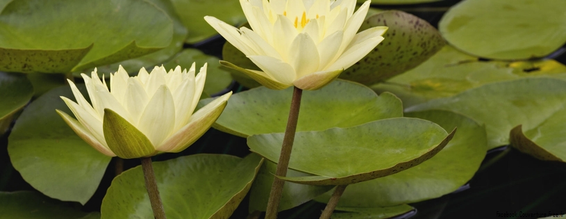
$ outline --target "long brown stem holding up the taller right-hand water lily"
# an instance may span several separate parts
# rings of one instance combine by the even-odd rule
[[[293,97],[291,99],[291,108],[289,110],[289,118],[287,120],[287,128],[283,137],[283,145],[281,146],[281,155],[275,171],[276,176],[287,176],[287,168],[289,167],[289,159],[291,158],[291,149],[293,148],[294,134],[297,130],[297,121],[299,120],[299,108],[301,108],[301,97],[303,90],[294,87]],[[267,211],[265,219],[277,218],[277,210],[283,193],[283,185],[285,181],[274,177],[271,193],[269,193],[269,201],[267,202]]]

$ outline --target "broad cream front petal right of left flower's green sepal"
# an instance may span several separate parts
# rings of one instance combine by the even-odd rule
[[[169,88],[160,86],[149,100],[138,124],[154,146],[160,145],[173,131],[175,125],[175,105]]]

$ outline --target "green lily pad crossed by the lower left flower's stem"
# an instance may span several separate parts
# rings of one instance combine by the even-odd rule
[[[168,218],[229,218],[248,192],[263,159],[195,154],[154,162]],[[102,218],[153,218],[140,166],[112,181],[102,200]]]

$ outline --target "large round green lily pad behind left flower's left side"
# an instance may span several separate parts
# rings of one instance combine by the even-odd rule
[[[84,86],[78,86],[85,93]],[[55,88],[24,109],[8,138],[12,165],[44,195],[85,204],[97,190],[110,156],[79,138],[56,113],[73,115],[60,96],[74,101],[69,86]]]

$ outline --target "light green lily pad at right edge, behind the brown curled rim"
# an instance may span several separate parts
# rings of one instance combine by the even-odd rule
[[[434,99],[406,108],[407,112],[444,109],[461,113],[485,124],[488,149],[510,143],[511,129],[522,124],[527,136],[535,138],[551,120],[558,120],[566,104],[566,81],[526,78],[488,83],[456,96]],[[556,121],[558,122],[558,121]],[[566,124],[566,121],[560,120]],[[536,130],[536,131],[529,131]],[[550,149],[550,148],[547,148]],[[562,150],[556,153],[563,153]]]

